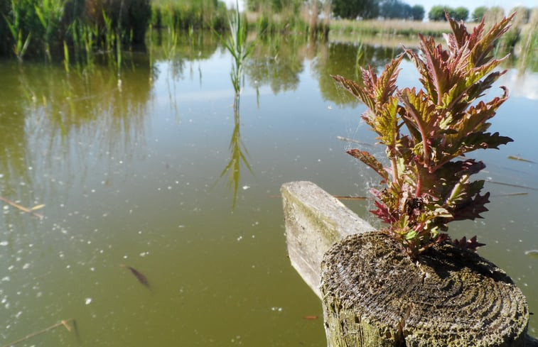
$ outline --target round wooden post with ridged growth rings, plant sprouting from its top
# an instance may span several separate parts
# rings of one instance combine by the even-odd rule
[[[448,243],[411,260],[383,233],[348,236],[323,258],[321,292],[328,346],[524,346],[520,289]]]

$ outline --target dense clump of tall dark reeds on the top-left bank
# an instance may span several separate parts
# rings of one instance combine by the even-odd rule
[[[65,42],[75,59],[104,50],[119,61],[117,52],[144,45],[151,6],[150,0],[0,0],[0,13],[0,55],[65,60]]]

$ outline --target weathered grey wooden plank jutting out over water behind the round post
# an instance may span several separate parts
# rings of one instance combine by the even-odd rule
[[[321,298],[320,266],[326,251],[344,236],[374,228],[312,182],[289,182],[280,191],[291,265]]]

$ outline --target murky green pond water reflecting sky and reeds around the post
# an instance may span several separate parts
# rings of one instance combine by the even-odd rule
[[[19,346],[326,346],[321,304],[286,257],[279,188],[367,195],[373,173],[338,136],[382,149],[329,75],[382,67],[399,48],[269,41],[247,61],[238,113],[231,57],[208,36],[126,58],[120,75],[0,62],[0,196],[45,204],[0,202],[0,345],[75,319],[77,334]],[[490,211],[451,231],[487,243],[479,253],[538,314],[538,259],[525,255],[538,249],[538,74],[498,84],[511,98],[492,128],[515,142],[476,153]],[[377,223],[371,202],[345,204]]]

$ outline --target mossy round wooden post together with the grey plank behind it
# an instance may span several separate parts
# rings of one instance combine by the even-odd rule
[[[445,252],[441,258],[431,255],[429,259],[410,262],[397,252],[397,245],[390,243],[390,239],[380,233],[368,233],[373,230],[372,226],[316,184],[286,183],[281,187],[281,193],[291,264],[319,297],[323,295],[328,346],[538,347],[538,340],[526,334],[527,303],[520,290],[505,272],[487,260],[447,245],[439,250]],[[372,238],[379,240],[372,242]],[[387,247],[384,248],[383,243]],[[390,252],[394,255],[388,255]],[[380,257],[380,254],[387,256]],[[463,276],[478,274],[480,282],[451,277],[452,272],[458,272],[456,268],[445,269],[446,272],[439,270],[437,263],[444,262],[447,256],[454,258],[451,261],[456,262],[456,268],[463,269]],[[360,260],[362,258],[367,259],[364,260],[367,263]],[[385,265],[382,261],[369,263],[372,259],[388,262],[392,270],[383,273]],[[458,265],[460,260],[463,263]],[[322,262],[323,280],[320,281]],[[400,268],[399,263],[404,267]],[[418,270],[419,275],[408,272],[411,270]],[[367,272],[370,277],[365,276]],[[395,272],[404,275],[398,277]],[[387,287],[387,277],[396,278],[396,282]],[[497,292],[496,286],[507,287],[508,297]],[[433,293],[426,293],[430,297],[419,294],[417,299],[410,294],[424,290],[424,287],[433,290]],[[487,289],[484,291],[480,287]],[[480,299],[477,295],[485,295],[485,298],[473,309],[472,303]],[[470,306],[462,310],[452,307],[458,296],[466,298]],[[437,301],[431,301],[434,299]],[[426,307],[421,306],[424,304],[421,300]],[[387,307],[381,306],[387,301],[387,306],[392,306],[388,313]],[[432,310],[436,310],[435,314],[430,314]],[[473,310],[480,312],[477,314]],[[459,314],[456,325],[443,321],[443,312],[448,318]],[[494,312],[493,316],[486,315],[480,320],[480,315],[488,312]],[[502,331],[495,331],[492,319],[502,326]],[[478,330],[469,329],[469,324],[474,324],[473,329]],[[479,341],[473,334],[481,327],[488,331],[480,333]],[[466,342],[466,339],[470,341]]]

